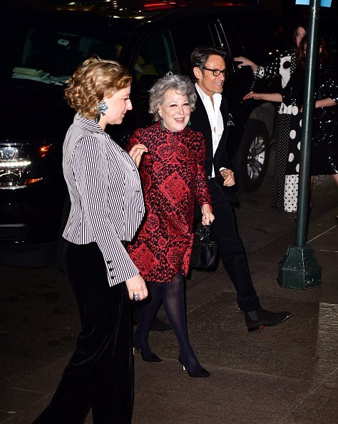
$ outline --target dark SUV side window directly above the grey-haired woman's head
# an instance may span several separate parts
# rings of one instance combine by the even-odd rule
[[[156,79],[170,71],[177,73],[177,59],[168,31],[153,34],[143,41],[138,49],[133,70],[138,91],[147,91]]]

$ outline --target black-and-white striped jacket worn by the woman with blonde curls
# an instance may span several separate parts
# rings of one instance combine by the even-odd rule
[[[63,238],[98,243],[110,286],[135,276],[122,241],[130,241],[145,213],[138,170],[128,153],[96,121],[76,114],[63,143],[63,175],[71,197]]]

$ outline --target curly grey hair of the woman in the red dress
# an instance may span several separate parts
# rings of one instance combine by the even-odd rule
[[[193,82],[185,75],[166,75],[158,79],[150,89],[149,113],[153,114],[154,121],[160,121],[158,106],[163,104],[164,95],[168,90],[175,90],[183,96],[187,96],[191,111],[195,111],[197,95]]]

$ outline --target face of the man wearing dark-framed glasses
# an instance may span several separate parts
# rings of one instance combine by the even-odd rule
[[[222,56],[217,56],[212,54],[209,56],[205,68],[208,69],[218,69],[220,71],[225,70],[225,61]],[[197,79],[198,86],[200,89],[208,96],[212,96],[215,93],[222,93],[223,83],[225,81],[225,76],[220,73],[219,76],[214,76],[212,71],[206,69],[199,69],[198,67],[194,68],[194,74]]]

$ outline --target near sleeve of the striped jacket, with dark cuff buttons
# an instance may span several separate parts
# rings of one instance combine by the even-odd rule
[[[138,268],[121,243],[113,216],[108,211],[108,158],[105,148],[96,139],[81,138],[74,148],[72,161],[83,218],[103,254],[108,283],[114,286],[135,276]],[[124,178],[118,172],[116,176]]]

